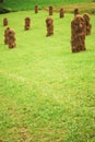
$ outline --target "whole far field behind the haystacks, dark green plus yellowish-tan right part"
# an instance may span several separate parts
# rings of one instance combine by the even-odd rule
[[[45,11],[48,11],[48,7],[52,5],[55,12],[63,8],[66,13],[73,13],[73,10],[79,8],[80,13],[87,12],[90,14],[95,14],[95,2],[93,0],[4,0],[2,7],[13,12],[34,10],[35,4],[38,4],[39,10]]]

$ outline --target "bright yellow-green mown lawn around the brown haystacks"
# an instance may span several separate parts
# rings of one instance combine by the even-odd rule
[[[3,44],[3,17],[15,31],[14,49]],[[70,45],[73,14],[54,13],[51,37],[46,17],[45,11],[0,15],[0,140],[95,142],[95,15],[86,51],[79,54]]]

